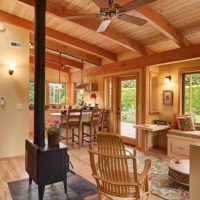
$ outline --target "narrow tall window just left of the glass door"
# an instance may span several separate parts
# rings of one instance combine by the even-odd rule
[[[112,89],[113,89],[112,78],[105,78],[104,79],[104,106],[108,110],[112,110]]]

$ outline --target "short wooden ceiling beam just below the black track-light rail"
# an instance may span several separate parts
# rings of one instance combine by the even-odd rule
[[[30,52],[30,55],[32,55],[32,56],[34,55],[34,49],[30,49],[29,52]],[[46,59],[48,59],[48,60],[52,60],[52,61],[55,61],[55,62],[61,62],[64,65],[69,65],[71,67],[83,69],[82,63],[76,62],[74,60],[70,60],[70,59],[63,57],[63,56],[61,56],[61,58],[60,58],[59,54],[55,54],[55,53],[46,51],[45,55],[46,55]]]

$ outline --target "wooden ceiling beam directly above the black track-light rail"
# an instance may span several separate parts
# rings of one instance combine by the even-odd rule
[[[34,42],[34,35],[30,33],[30,42]],[[97,58],[91,54],[83,52],[79,49],[67,46],[64,42],[58,42],[57,40],[46,37],[46,47],[56,51],[61,51],[65,54],[73,56],[74,58],[80,58],[87,62],[94,63],[96,65],[101,65],[101,59]],[[69,56],[69,58],[70,58]]]

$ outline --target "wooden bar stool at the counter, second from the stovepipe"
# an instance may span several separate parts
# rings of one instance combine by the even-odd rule
[[[92,143],[92,135],[94,131],[94,139],[96,138],[96,128],[99,129],[100,131],[103,131],[103,121],[104,121],[104,113],[105,109],[93,109],[92,110],[92,115],[91,115],[91,120],[88,122],[83,122],[82,124],[82,144],[83,142],[89,142]],[[85,132],[85,127],[89,127],[89,133]],[[89,138],[85,139],[85,138]]]

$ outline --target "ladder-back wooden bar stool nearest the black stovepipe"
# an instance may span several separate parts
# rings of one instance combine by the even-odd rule
[[[82,119],[82,109],[69,109],[66,120],[66,144],[68,144],[69,139],[72,139],[72,143],[75,142],[74,138],[78,138],[78,146],[80,147],[81,140],[81,119]],[[75,133],[74,129],[78,130],[78,134]],[[69,131],[72,134],[69,137]]]

